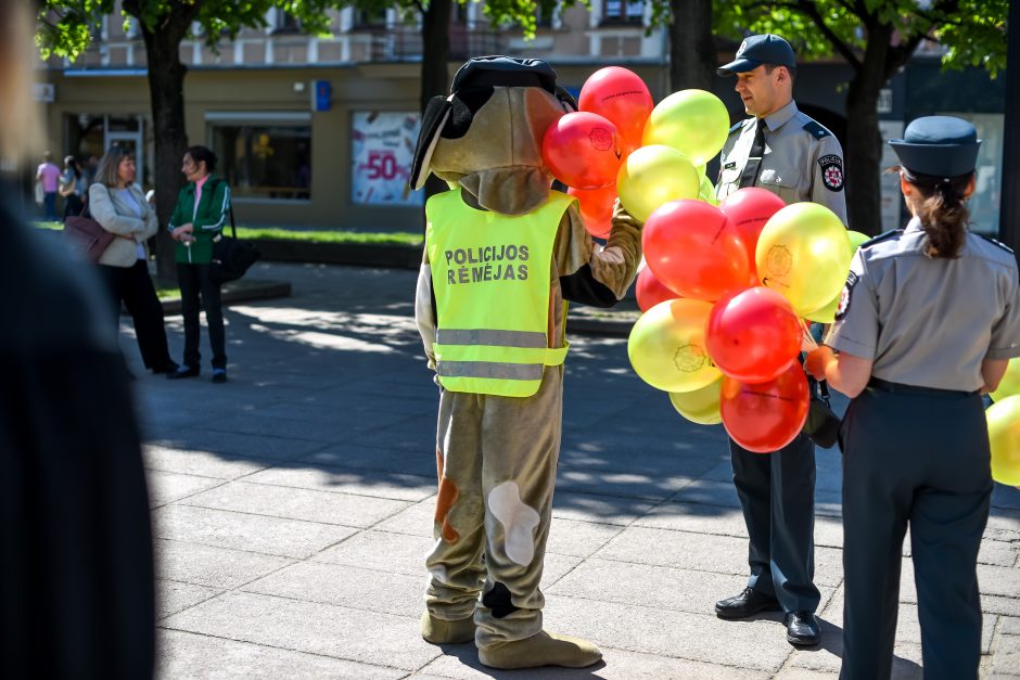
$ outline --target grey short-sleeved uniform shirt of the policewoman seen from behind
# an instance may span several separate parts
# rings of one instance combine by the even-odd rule
[[[915,218],[857,249],[826,344],[893,383],[974,392],[984,359],[1020,356],[1020,285],[1006,246],[972,233],[929,257]]]

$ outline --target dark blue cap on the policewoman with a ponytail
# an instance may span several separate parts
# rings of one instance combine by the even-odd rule
[[[974,126],[966,120],[925,116],[907,126],[903,139],[889,140],[889,145],[911,172],[951,178],[973,172],[981,142]]]

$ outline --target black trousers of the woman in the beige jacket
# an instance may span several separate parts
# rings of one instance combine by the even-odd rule
[[[127,307],[135,322],[138,349],[146,369],[164,370],[173,363],[163,326],[163,305],[156,296],[149,275],[149,266],[143,259],[130,267],[100,265],[100,274],[106,284],[110,304],[117,328],[120,328],[120,301]]]

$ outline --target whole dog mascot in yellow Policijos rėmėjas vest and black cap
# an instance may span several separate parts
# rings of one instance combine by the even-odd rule
[[[441,386],[439,491],[421,619],[436,644],[474,640],[494,668],[584,667],[585,640],[543,630],[538,589],[562,423],[565,300],[612,306],[634,280],[641,224],[619,209],[604,248],[550,191],[546,129],[573,100],[540,60],[485,56],[425,112],[410,184],[425,206],[416,317]]]

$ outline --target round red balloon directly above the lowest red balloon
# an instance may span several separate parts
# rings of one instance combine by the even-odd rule
[[[726,375],[764,383],[796,362],[801,335],[801,321],[787,298],[756,286],[715,304],[705,328],[705,345]]]

